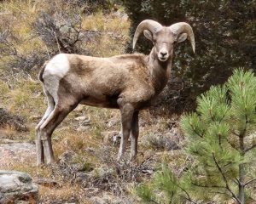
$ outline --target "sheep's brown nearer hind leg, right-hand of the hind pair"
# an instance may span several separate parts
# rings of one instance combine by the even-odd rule
[[[55,161],[51,144],[51,135],[55,130],[55,127],[57,127],[68,115],[68,113],[73,111],[73,109],[78,105],[78,103],[75,102],[67,104],[63,101],[61,104],[65,106],[55,105],[54,111],[50,113],[49,117],[40,127],[40,136],[41,140],[43,140],[44,146],[44,160],[47,164],[53,163]]]

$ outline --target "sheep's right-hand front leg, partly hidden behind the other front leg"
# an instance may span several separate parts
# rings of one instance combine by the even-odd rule
[[[138,114],[139,112],[136,111],[133,114],[132,122],[131,122],[131,160],[136,159],[137,156],[137,139],[139,135],[139,127],[138,127]]]

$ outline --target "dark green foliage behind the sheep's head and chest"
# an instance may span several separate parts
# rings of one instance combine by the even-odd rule
[[[131,37],[137,25],[145,19],[157,20],[166,26],[186,21],[193,27],[195,54],[189,42],[180,43],[175,48],[172,79],[160,99],[169,110],[195,108],[196,96],[212,84],[224,83],[235,67],[255,71],[255,0],[123,0],[123,3],[131,19]],[[148,54],[150,48],[152,44],[141,37],[137,51]],[[131,42],[128,51],[131,52]],[[177,86],[175,77],[182,77],[184,86]],[[177,88],[176,94],[173,94],[174,88]]]

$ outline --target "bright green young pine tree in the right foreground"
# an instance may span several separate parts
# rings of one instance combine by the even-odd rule
[[[148,188],[149,192],[151,186],[148,195],[156,203],[184,203],[181,199],[190,203],[223,203],[230,199],[238,204],[252,203],[256,183],[253,71],[234,71],[224,86],[210,88],[197,99],[197,104],[195,113],[181,118],[186,152],[193,161],[189,170],[177,178],[164,167],[156,173],[152,184],[138,188],[139,195],[143,197],[143,190]],[[153,189],[165,192],[164,201],[157,199]],[[146,198],[144,201],[149,201]]]

